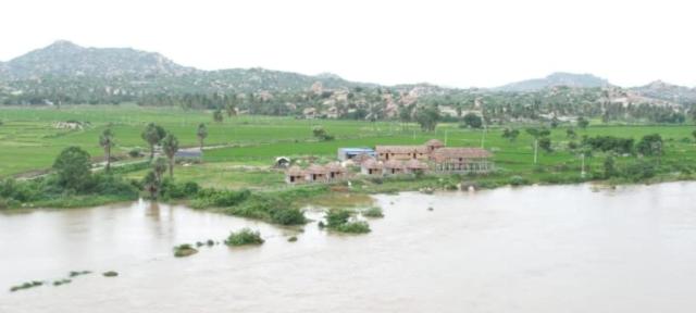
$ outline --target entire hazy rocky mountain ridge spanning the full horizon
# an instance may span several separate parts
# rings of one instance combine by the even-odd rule
[[[378,95],[382,95],[382,90],[374,89],[388,89],[385,91],[413,99],[458,92],[538,92],[554,97],[557,89],[554,87],[559,86],[577,89],[574,91],[580,93],[588,91],[597,93],[598,97],[620,100],[631,96],[626,101],[637,99],[635,101],[660,105],[666,102],[696,104],[696,88],[660,80],[642,87],[621,88],[592,74],[557,72],[544,78],[521,80],[490,89],[449,88],[426,83],[384,86],[346,80],[333,73],[304,75],[260,67],[203,71],[179,65],[156,52],[132,48],[85,48],[66,40],[59,40],[8,62],[0,62],[0,102],[5,104],[40,104],[47,101],[119,103],[138,101],[152,95],[192,93],[310,92],[328,97],[332,90],[341,89],[340,92],[345,92],[364,88],[378,91]],[[587,88],[594,90],[580,90]],[[520,99],[525,97],[513,96]]]

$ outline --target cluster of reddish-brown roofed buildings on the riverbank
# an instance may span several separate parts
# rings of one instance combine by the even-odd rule
[[[339,148],[337,160],[325,165],[311,164],[307,168],[289,165],[290,160],[278,158],[276,166],[286,167],[287,184],[330,183],[356,175],[382,177],[433,173],[488,173],[495,170],[490,152],[481,148],[445,147],[431,139],[419,146],[376,146],[371,148]]]

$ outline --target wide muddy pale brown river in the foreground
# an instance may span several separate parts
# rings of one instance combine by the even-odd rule
[[[0,213],[0,312],[696,311],[696,183],[375,198],[360,236],[148,202]],[[172,255],[245,226],[266,242]]]

